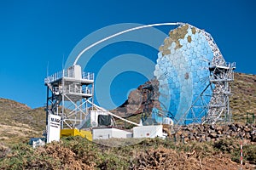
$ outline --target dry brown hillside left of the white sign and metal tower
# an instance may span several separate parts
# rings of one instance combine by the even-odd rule
[[[0,140],[4,143],[40,137],[45,128],[44,108],[31,109],[10,99],[0,99]]]

